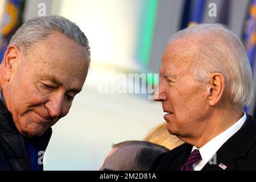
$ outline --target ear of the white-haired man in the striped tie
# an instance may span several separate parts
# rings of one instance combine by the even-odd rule
[[[209,82],[209,105],[215,106],[221,100],[225,90],[225,77],[221,73],[213,73]]]

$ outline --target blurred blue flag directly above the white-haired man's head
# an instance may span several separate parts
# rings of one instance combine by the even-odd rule
[[[205,0],[186,0],[184,3],[181,29],[202,21]]]

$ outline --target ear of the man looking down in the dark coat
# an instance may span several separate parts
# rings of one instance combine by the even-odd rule
[[[7,47],[5,56],[3,57],[3,78],[9,81],[16,73],[19,63],[20,49],[14,45]]]

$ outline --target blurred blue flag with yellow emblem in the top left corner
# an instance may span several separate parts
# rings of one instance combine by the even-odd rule
[[[3,18],[0,20],[0,63],[11,36],[22,24],[22,13],[25,0],[6,0]]]

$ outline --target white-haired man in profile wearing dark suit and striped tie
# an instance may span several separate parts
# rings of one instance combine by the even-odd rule
[[[243,111],[252,98],[241,40],[221,24],[199,24],[172,36],[155,98],[168,131],[185,143],[151,170],[256,170],[256,122]]]

